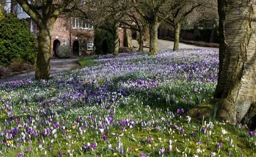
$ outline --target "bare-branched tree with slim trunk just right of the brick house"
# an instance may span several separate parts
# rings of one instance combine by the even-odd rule
[[[109,31],[114,39],[113,55],[118,55],[118,29],[121,27],[120,21],[128,8],[126,1],[84,1],[84,5],[77,7],[77,14],[96,28]]]

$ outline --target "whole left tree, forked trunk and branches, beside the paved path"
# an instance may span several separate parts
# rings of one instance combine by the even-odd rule
[[[16,0],[16,2],[22,6],[23,10],[33,19],[39,29],[35,79],[48,80],[50,75],[51,34],[53,24],[58,15],[73,1]]]

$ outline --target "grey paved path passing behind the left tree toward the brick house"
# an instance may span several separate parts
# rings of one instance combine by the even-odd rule
[[[78,66],[79,64],[76,63],[78,58],[69,58],[69,59],[52,59],[50,60],[51,71],[50,74],[60,73],[65,70],[70,70],[73,67]],[[12,75],[10,77],[0,79],[0,83],[5,83],[8,81],[24,79],[27,77],[34,77],[35,71],[31,70],[30,72],[21,73],[17,75]]]

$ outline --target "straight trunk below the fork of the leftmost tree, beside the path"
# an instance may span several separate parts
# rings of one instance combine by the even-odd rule
[[[39,29],[38,54],[36,59],[35,79],[49,80],[51,57],[51,29],[42,26]]]

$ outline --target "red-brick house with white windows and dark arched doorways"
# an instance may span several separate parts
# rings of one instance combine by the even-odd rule
[[[18,4],[14,7],[17,18],[26,19],[28,28],[36,37],[38,36],[37,25],[30,16],[23,11]],[[123,29],[119,29],[119,46],[123,46]],[[87,56],[94,51],[94,28],[80,18],[67,18],[60,15],[53,26],[51,37],[51,56],[57,57],[59,45],[69,45],[72,48],[73,56]]]

